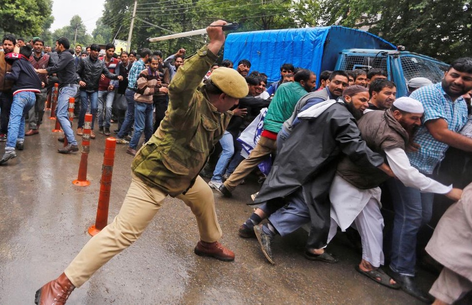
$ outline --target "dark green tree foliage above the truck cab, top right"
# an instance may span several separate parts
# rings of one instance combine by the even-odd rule
[[[472,9],[464,0],[320,1],[319,20],[348,27],[369,27],[408,51],[450,62],[471,54]]]

